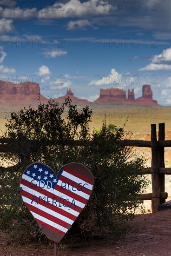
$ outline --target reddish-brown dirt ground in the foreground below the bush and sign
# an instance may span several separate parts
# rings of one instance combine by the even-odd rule
[[[58,256],[171,256],[171,210],[141,214],[132,222],[132,230],[125,237],[78,243]],[[6,239],[0,234],[0,256],[53,256],[53,245],[27,243]]]

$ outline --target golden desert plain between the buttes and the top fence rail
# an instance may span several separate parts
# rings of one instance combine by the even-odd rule
[[[28,105],[26,104],[26,108]],[[33,104],[32,104],[33,106]],[[78,108],[83,108],[85,105],[77,104]],[[35,106],[34,106],[35,107]],[[165,123],[165,128],[170,129],[171,126],[171,109],[169,106],[139,106],[139,105],[122,105],[122,104],[89,104],[92,108],[92,122],[90,122],[90,128],[101,128],[103,119],[106,115],[106,124],[112,123],[117,126],[123,126],[126,122],[126,130],[132,131],[133,134],[145,134],[151,132],[151,124]],[[23,108],[23,106],[20,106]],[[10,113],[18,111],[20,108],[3,107],[0,106],[0,127],[4,130],[6,118],[10,118]]]

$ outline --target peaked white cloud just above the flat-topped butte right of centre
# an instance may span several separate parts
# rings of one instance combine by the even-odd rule
[[[88,85],[103,86],[103,85],[116,85],[119,87],[125,87],[131,84],[132,76],[129,73],[126,76],[119,74],[114,68],[111,70],[111,74],[108,76],[94,75],[94,80],[92,80]]]

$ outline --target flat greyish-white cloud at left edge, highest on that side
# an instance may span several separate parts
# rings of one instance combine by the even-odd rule
[[[29,19],[31,17],[36,16],[36,8],[32,9],[20,9],[19,7],[16,8],[5,8],[0,11],[0,15],[3,18],[10,18],[10,19]]]

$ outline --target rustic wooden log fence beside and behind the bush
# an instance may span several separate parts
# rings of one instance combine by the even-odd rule
[[[20,139],[20,138],[19,138]],[[124,146],[151,148],[151,168],[141,170],[141,175],[151,174],[152,193],[142,194],[138,197],[140,200],[151,200],[152,213],[158,211],[158,205],[165,202],[168,195],[164,191],[164,175],[171,175],[171,168],[165,168],[164,148],[171,147],[171,140],[165,141],[164,123],[158,124],[158,140],[156,124],[151,124],[151,141],[141,140],[122,140]],[[7,141],[0,139],[0,152],[4,152]],[[82,145],[81,141],[76,141]],[[5,150],[6,151],[6,150]]]

